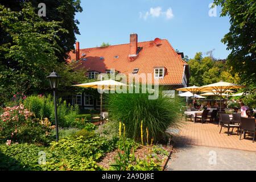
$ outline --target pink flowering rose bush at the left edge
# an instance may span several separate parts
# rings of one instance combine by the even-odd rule
[[[23,104],[3,108],[0,118],[0,142],[47,144],[51,140],[48,118],[39,119]]]

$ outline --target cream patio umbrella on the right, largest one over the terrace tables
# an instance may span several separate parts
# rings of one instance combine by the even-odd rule
[[[238,88],[243,88],[243,87],[245,87],[245,86],[220,81],[220,82],[217,82],[217,83],[214,83],[214,84],[201,86],[200,91],[203,92],[203,91],[216,90],[216,92],[220,93],[220,96],[222,96],[222,94],[225,93],[226,90],[238,89]],[[221,98],[220,98],[220,110],[221,110]]]

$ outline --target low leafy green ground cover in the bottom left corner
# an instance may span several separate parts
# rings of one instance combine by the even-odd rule
[[[65,147],[65,146],[63,146]],[[68,146],[67,146],[68,147]],[[46,154],[46,163],[39,164],[40,152]],[[42,154],[42,153],[41,153]],[[51,149],[33,144],[0,144],[0,171],[7,170],[102,170],[93,158],[76,155],[61,148]]]

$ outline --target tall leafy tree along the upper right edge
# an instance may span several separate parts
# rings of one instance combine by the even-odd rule
[[[222,7],[220,16],[229,16],[228,34],[221,40],[231,50],[227,64],[234,76],[240,76],[240,84],[255,90],[256,73],[256,1],[215,0]]]

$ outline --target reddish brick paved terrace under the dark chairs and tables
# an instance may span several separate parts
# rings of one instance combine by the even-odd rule
[[[208,146],[219,148],[230,148],[236,150],[256,152],[256,142],[253,143],[253,137],[246,134],[246,138],[240,140],[237,129],[228,136],[228,129],[216,123],[193,123],[191,121],[183,122],[179,127],[179,134],[173,134],[177,143],[183,143],[193,146]],[[231,131],[232,129],[230,129]]]

